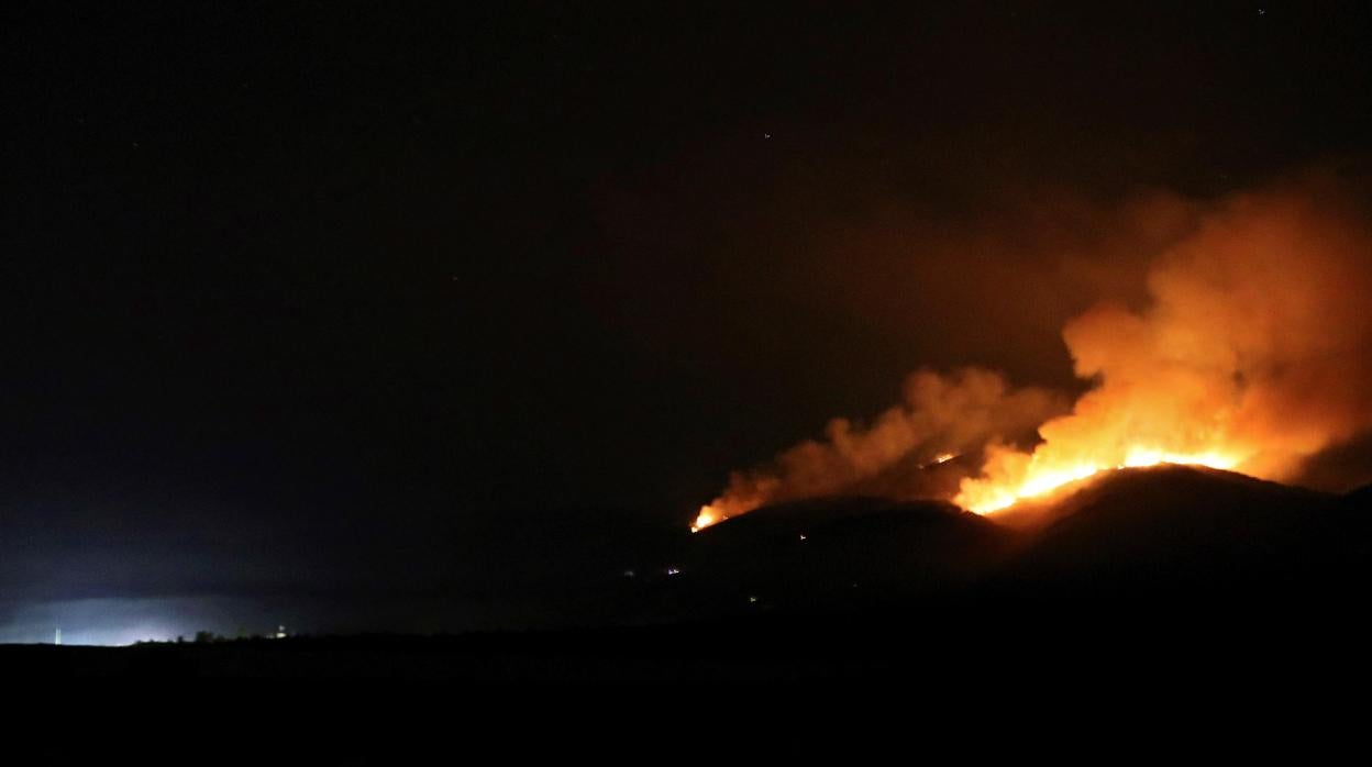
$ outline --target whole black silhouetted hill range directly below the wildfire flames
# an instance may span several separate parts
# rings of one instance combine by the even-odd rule
[[[1336,601],[1367,580],[1369,504],[1372,488],[1338,497],[1180,465],[1109,472],[986,517],[943,502],[815,499],[702,531],[683,580],[797,609],[988,595]]]

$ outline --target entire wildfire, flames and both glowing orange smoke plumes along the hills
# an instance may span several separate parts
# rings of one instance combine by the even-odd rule
[[[1323,180],[1203,206],[1154,258],[1146,305],[1102,303],[1063,328],[1092,384],[1070,408],[984,369],[921,370],[870,427],[834,420],[826,439],[734,473],[693,530],[845,491],[912,456],[921,472],[980,456],[943,495],[978,513],[1131,467],[1291,479],[1372,427],[1367,221]]]

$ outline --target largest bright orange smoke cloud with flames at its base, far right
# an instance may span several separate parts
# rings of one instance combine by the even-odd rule
[[[1162,461],[1291,479],[1372,427],[1372,232],[1329,181],[1231,198],[1163,252],[1142,310],[1063,329],[1096,381],[1032,453],[992,450],[958,502],[1004,508],[1102,469]]]

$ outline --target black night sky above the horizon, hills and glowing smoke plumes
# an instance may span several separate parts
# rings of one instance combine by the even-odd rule
[[[1372,140],[1360,3],[34,5],[0,624],[563,619],[915,368],[1070,386],[1062,321],[1137,290],[1044,255],[1110,241],[1073,211]]]

